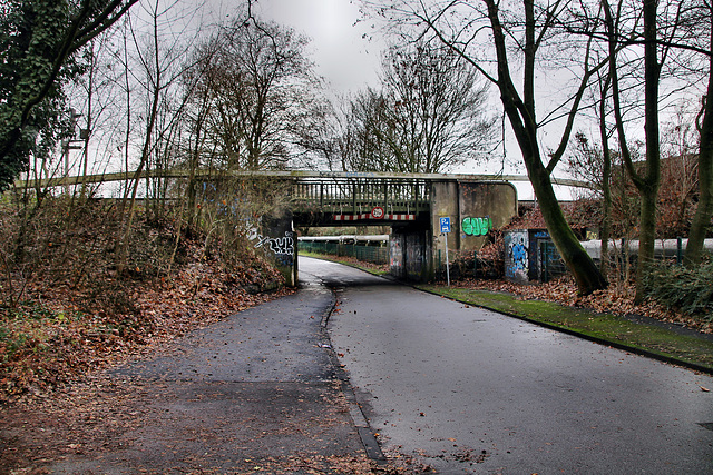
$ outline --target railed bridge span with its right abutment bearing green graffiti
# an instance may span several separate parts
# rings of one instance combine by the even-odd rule
[[[293,181],[290,208],[283,226],[293,236],[295,227],[389,226],[391,275],[428,281],[446,260],[440,218],[451,220],[451,256],[471,253],[491,228],[516,216],[517,191],[507,181],[467,176],[314,174]],[[283,274],[296,283],[294,250],[293,266]]]

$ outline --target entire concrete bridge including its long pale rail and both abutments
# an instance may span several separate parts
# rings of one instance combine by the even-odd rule
[[[251,240],[265,250],[289,285],[297,283],[295,227],[389,226],[391,274],[427,281],[450,253],[479,249],[491,228],[517,215],[517,190],[511,181],[526,176],[443,175],[331,171],[207,171],[163,170],[141,174],[104,174],[37,181],[18,180],[16,187],[70,187],[145,179],[192,184],[195,200],[232,202],[240,190],[221,187],[221,180],[263,181],[281,196],[268,216],[257,216]],[[587,187],[577,180],[557,185]],[[213,196],[206,190],[213,189]],[[234,196],[231,196],[234,195]],[[271,199],[274,200],[274,196]],[[253,198],[254,199],[254,198]],[[449,218],[451,232],[441,234],[440,218]]]

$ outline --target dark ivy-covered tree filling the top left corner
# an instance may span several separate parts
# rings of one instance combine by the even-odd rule
[[[31,155],[61,138],[48,127],[61,120],[59,85],[80,72],[81,48],[137,1],[9,0],[1,7],[0,191],[28,169]]]

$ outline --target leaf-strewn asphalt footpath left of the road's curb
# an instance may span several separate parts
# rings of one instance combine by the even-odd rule
[[[324,347],[332,305],[305,278],[294,295],[108,372],[72,420],[86,434],[78,449],[41,473],[342,475],[367,464]]]

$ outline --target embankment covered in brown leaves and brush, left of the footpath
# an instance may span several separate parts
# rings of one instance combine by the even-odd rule
[[[256,305],[283,284],[247,244],[215,235],[206,253],[199,228],[144,214],[119,274],[120,222],[106,200],[0,205],[0,402]]]

